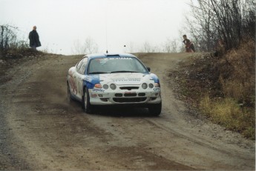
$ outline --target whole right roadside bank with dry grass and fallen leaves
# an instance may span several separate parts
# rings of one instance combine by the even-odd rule
[[[255,139],[255,43],[221,57],[194,53],[169,76],[177,93],[214,123]]]

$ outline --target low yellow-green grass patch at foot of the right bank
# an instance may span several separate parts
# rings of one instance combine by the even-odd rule
[[[205,96],[200,101],[200,110],[214,123],[242,133],[246,138],[255,138],[254,111],[240,107],[234,98],[210,99]]]

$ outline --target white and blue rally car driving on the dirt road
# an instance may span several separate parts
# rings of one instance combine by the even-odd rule
[[[91,54],[68,70],[68,101],[82,102],[85,113],[96,105],[148,107],[160,115],[159,78],[131,54]]]

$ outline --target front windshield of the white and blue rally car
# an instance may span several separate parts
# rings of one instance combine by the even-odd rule
[[[88,74],[99,73],[146,73],[148,70],[137,58],[93,58]]]

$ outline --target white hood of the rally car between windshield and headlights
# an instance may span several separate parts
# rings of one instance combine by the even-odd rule
[[[142,82],[154,81],[152,74],[145,73],[110,73],[99,76],[102,83],[108,84],[113,82],[116,85],[140,85]]]

